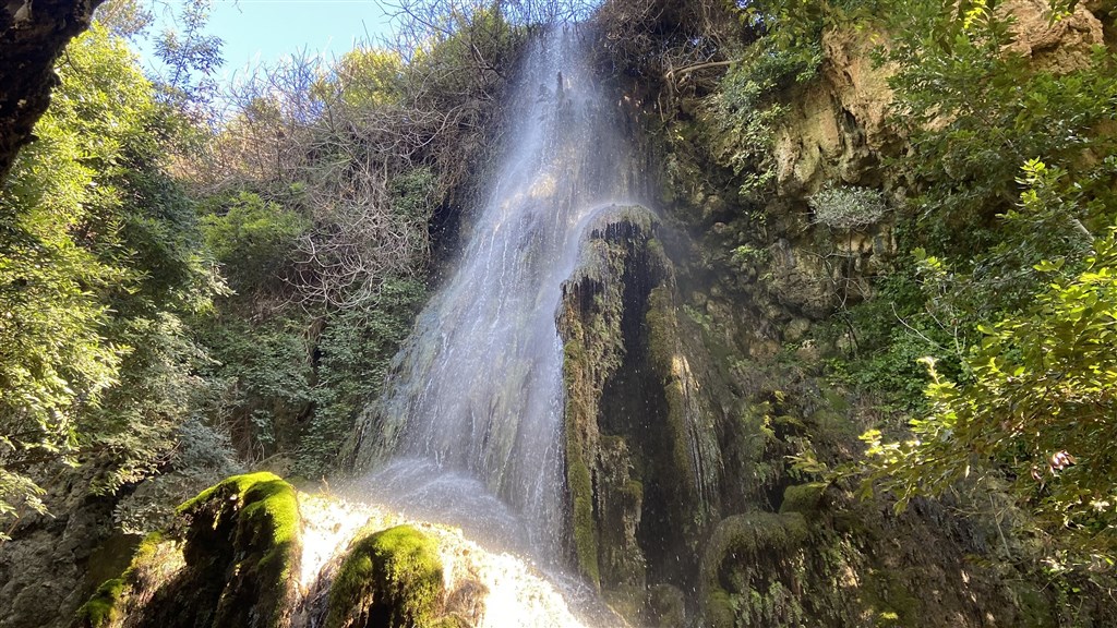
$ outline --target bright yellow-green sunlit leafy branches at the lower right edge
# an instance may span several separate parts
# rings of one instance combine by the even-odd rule
[[[1038,198],[1025,192],[1024,204]],[[1117,556],[1113,504],[1117,384],[1117,230],[1094,244],[1080,272],[1060,278],[1062,260],[1035,270],[1056,275],[1033,303],[983,334],[967,359],[973,381],[958,384],[926,360],[929,416],[913,438],[863,438],[869,479],[897,494],[898,507],[938,495],[971,475],[1003,474],[1037,524],[1087,558]],[[1111,564],[1111,562],[1110,562]]]

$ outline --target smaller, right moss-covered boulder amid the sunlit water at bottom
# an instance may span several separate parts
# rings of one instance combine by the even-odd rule
[[[433,628],[455,626],[438,617],[442,563],[436,542],[410,525],[360,537],[350,545],[330,589],[326,628]]]

